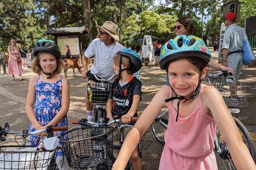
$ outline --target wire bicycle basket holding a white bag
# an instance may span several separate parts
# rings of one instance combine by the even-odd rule
[[[0,170],[54,170],[55,151],[36,151],[36,146],[0,146]]]

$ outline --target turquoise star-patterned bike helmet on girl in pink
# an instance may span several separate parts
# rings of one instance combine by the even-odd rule
[[[201,38],[194,35],[189,35],[188,37],[186,35],[178,35],[166,42],[161,48],[159,66],[163,70],[168,61],[192,56],[202,58],[209,63],[211,53]]]

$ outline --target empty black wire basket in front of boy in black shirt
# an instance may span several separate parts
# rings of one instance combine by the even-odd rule
[[[113,127],[81,127],[70,130],[61,141],[68,165],[88,169],[107,162],[113,155]]]

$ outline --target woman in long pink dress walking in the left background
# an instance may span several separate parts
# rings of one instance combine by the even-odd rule
[[[20,55],[19,55],[19,47],[16,46],[16,41],[15,39],[11,39],[9,46],[8,46],[8,53],[9,53],[9,60],[8,60],[8,75],[12,75],[13,76],[13,81],[16,80],[14,75],[19,75],[20,76],[20,80],[24,80],[24,78],[21,76],[21,73],[24,73],[22,66],[21,66],[21,62],[17,62],[17,61],[21,61],[20,59]]]

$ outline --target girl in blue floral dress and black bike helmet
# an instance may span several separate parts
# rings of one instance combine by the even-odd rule
[[[69,82],[60,75],[64,66],[60,59],[60,49],[54,43],[41,42],[35,46],[33,53],[36,58],[32,62],[32,70],[39,75],[32,77],[28,86],[26,113],[31,121],[30,130],[33,132],[50,125],[67,126]],[[66,132],[57,131],[54,135],[63,135]],[[38,136],[47,135],[47,132],[38,134]],[[38,145],[40,138],[31,136],[30,141],[33,145]],[[62,162],[63,152],[58,151],[56,164],[59,169]],[[65,160],[63,169],[69,169]]]

